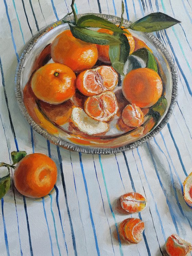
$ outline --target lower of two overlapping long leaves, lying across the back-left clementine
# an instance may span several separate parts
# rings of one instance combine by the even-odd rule
[[[118,45],[121,41],[114,35],[99,33],[88,28],[76,27],[69,24],[71,33],[74,37],[85,42],[99,45]]]

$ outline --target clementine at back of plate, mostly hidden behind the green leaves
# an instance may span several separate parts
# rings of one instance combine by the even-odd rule
[[[113,31],[108,30],[106,28],[100,28],[97,31],[100,33],[106,33],[106,34],[113,35]],[[128,34],[125,33],[124,35],[127,37],[128,41],[129,41],[130,54],[132,54],[134,51],[134,48],[135,48],[134,38],[128,30],[125,30],[125,31],[128,33]],[[111,61],[109,58],[109,45],[97,45],[97,49],[98,49],[98,59],[101,61],[104,61],[106,63],[110,63]]]

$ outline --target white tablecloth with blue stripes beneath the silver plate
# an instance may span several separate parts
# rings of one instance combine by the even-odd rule
[[[33,131],[14,94],[14,75],[25,44],[43,27],[71,11],[71,0],[0,0],[0,160],[10,152],[45,153],[58,166],[55,192],[32,200],[14,187],[0,203],[0,255],[163,255],[176,233],[192,242],[192,209],[182,183],[192,171],[192,1],[125,0],[124,18],[151,12],[178,20],[156,34],[169,50],[179,75],[178,100],[169,123],[137,149],[112,155],[85,155],[53,146]],[[77,13],[121,15],[120,0],[76,0]],[[129,191],[147,198],[133,217],[145,222],[142,242],[120,241],[118,223],[128,215],[117,199]]]

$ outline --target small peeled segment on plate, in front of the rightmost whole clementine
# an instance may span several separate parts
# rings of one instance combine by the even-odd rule
[[[143,124],[144,114],[140,107],[135,104],[129,104],[123,109],[122,120],[125,125],[137,127]]]

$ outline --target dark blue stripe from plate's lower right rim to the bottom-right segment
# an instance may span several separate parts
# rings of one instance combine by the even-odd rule
[[[149,153],[150,153],[150,155],[151,155],[151,159],[152,159],[152,162],[153,162],[153,165],[154,165],[154,168],[155,168],[155,172],[156,172],[156,175],[157,175],[159,184],[160,184],[160,186],[161,186],[161,188],[162,188],[162,190],[163,190],[163,193],[164,193],[164,195],[165,195],[165,197],[166,197],[167,205],[168,205],[168,207],[169,207],[169,211],[170,211],[170,214],[171,214],[171,218],[172,218],[173,224],[175,225],[175,229],[176,229],[177,233],[179,234],[179,230],[178,230],[178,226],[177,226],[177,223],[176,223],[175,215],[174,215],[174,213],[173,213],[173,209],[172,209],[171,203],[169,202],[169,199],[168,199],[167,196],[166,196],[165,188],[164,188],[164,186],[163,186],[163,184],[162,184],[162,182],[161,182],[161,179],[160,179],[160,177],[159,177],[159,173],[158,173],[158,170],[157,170],[157,165],[156,165],[155,160],[154,160],[154,158],[153,158],[152,151],[151,151],[151,149],[149,148],[148,142],[146,142],[146,144],[147,144],[147,148],[148,148],[148,150],[149,150]]]

